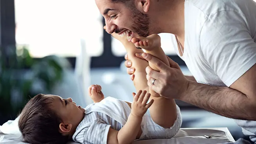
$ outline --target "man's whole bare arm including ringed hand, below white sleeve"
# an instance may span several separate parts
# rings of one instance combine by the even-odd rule
[[[153,90],[160,95],[179,99],[225,117],[256,121],[256,65],[228,87],[210,86],[187,80],[177,63],[170,58],[168,67],[150,54],[144,57],[154,63],[160,72],[147,71],[159,83]]]

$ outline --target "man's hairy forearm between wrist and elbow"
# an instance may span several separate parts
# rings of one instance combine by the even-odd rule
[[[189,81],[187,92],[180,100],[225,117],[256,121],[255,101],[228,87]]]

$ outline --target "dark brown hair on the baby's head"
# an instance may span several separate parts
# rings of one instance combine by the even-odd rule
[[[66,144],[68,135],[59,132],[61,118],[50,108],[52,97],[34,96],[23,108],[18,121],[23,141],[31,144]]]

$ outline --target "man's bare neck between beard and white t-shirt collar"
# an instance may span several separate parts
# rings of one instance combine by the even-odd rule
[[[157,23],[153,27],[158,33],[172,33],[178,37],[184,36],[184,1],[185,0],[166,0],[165,4],[160,4],[151,17]]]

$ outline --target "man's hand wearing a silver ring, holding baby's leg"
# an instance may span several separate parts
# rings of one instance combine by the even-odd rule
[[[186,95],[189,81],[183,75],[177,63],[167,57],[170,64],[169,67],[150,54],[143,53],[142,56],[160,70],[160,72],[157,72],[150,67],[146,68],[148,86],[150,88],[161,96],[171,99],[180,99]],[[152,84],[154,79],[154,84]]]

